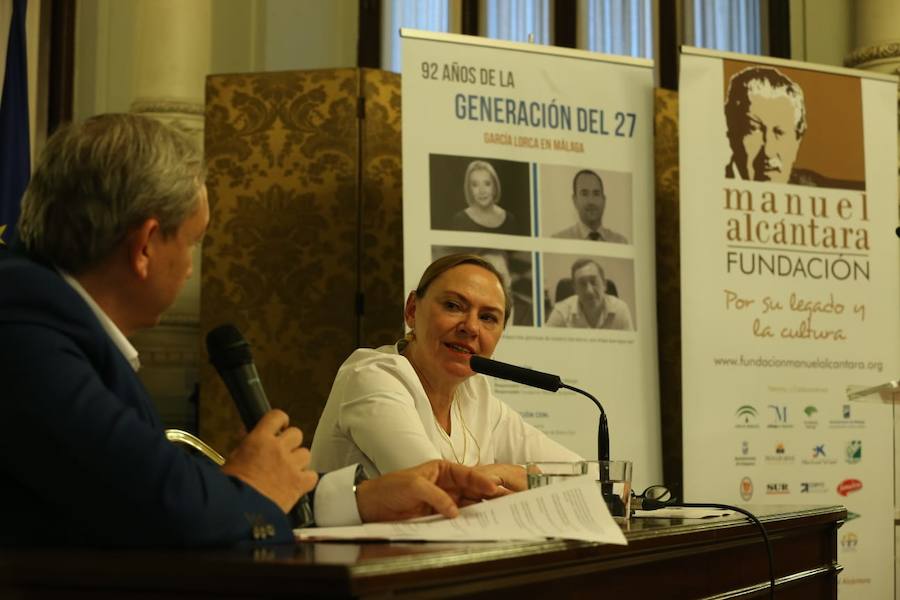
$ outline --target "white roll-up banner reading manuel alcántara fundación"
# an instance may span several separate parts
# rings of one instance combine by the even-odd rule
[[[685,49],[679,87],[686,495],[843,504],[841,597],[893,597],[892,407],[846,390],[900,373],[896,79]]]

